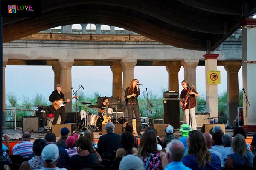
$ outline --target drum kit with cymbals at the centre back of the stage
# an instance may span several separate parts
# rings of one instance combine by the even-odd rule
[[[81,104],[85,105],[85,109],[80,111],[81,119],[83,119],[82,128],[84,129],[92,129],[93,131],[102,131],[102,125],[106,124],[107,122],[113,122],[114,124],[123,124],[127,120],[122,117],[118,118],[117,121],[114,118],[113,114],[113,108],[103,107],[104,111],[101,112],[101,115],[93,115],[87,110],[88,108],[92,109],[101,109],[101,106],[98,105],[91,105],[91,103],[88,102],[81,102]],[[116,105],[116,104],[113,104]]]

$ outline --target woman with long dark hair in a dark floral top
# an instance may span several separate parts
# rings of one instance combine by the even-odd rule
[[[140,138],[137,155],[141,157],[145,170],[162,170],[168,164],[166,153],[157,150],[157,133],[148,130]]]

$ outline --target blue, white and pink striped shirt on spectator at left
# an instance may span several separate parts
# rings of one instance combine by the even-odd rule
[[[33,153],[33,142],[21,141],[12,148],[13,155],[21,155],[23,158],[28,158]]]

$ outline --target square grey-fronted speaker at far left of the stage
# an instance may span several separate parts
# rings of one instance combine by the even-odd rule
[[[22,117],[22,132],[39,132],[39,117],[38,116],[23,116]]]

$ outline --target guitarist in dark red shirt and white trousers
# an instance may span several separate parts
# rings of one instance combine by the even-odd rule
[[[195,91],[195,89],[193,88],[192,91],[190,91],[189,93],[189,82],[187,80],[183,80],[181,82],[182,87],[184,88],[181,91],[180,94],[180,106],[186,106],[183,110],[184,110],[184,116],[185,116],[185,120],[186,120],[186,124],[189,124],[189,106],[190,106],[190,117],[192,120],[192,129],[196,130],[197,127],[197,123],[196,123],[196,119],[195,119],[195,106],[196,106],[196,98],[195,97],[199,97],[199,94]],[[189,105],[189,97],[190,95],[190,105]],[[186,100],[187,98],[187,100]],[[186,102],[185,102],[186,100]]]

